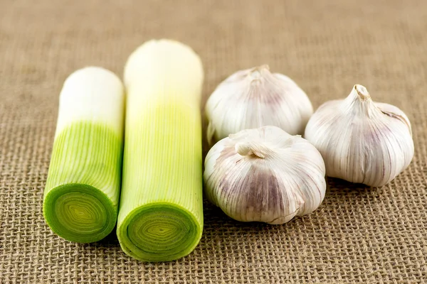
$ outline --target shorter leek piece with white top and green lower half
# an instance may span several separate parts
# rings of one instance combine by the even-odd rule
[[[43,197],[46,222],[63,239],[99,241],[115,227],[124,113],[112,72],[85,67],[65,80]]]

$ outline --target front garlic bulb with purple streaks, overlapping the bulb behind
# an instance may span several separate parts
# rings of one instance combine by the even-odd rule
[[[206,197],[243,222],[283,224],[325,197],[325,163],[300,136],[275,126],[247,129],[216,143],[205,160]]]

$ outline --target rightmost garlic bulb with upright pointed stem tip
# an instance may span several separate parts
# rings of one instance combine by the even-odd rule
[[[373,102],[359,84],[347,99],[322,104],[305,138],[322,154],[328,176],[375,187],[393,180],[413,158],[408,117],[397,107]]]

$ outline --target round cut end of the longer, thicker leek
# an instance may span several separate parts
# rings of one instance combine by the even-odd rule
[[[117,227],[122,249],[140,261],[172,261],[189,254],[202,227],[191,212],[175,204],[149,204],[128,214]]]

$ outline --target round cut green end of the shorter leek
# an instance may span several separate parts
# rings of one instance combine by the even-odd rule
[[[72,183],[53,188],[43,204],[46,222],[69,241],[99,241],[114,229],[117,209],[104,192]]]

